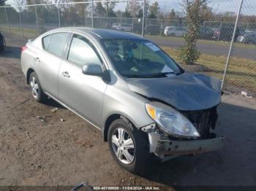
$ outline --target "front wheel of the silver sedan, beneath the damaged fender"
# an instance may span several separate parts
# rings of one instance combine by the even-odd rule
[[[122,119],[111,123],[108,130],[110,152],[118,165],[134,174],[144,174],[148,161],[146,133]]]

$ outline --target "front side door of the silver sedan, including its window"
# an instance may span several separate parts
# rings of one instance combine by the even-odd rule
[[[59,70],[59,100],[99,127],[107,83],[102,77],[83,74],[82,67],[86,63],[97,63],[104,68],[89,39],[74,34],[67,61],[61,63]]]

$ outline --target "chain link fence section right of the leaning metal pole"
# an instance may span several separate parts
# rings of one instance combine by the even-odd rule
[[[237,2],[237,8],[240,1]],[[237,17],[237,29],[230,62],[225,76],[224,89],[234,92],[246,91],[256,95],[256,22],[244,23],[244,20],[253,18],[256,1],[241,1],[240,15]],[[256,21],[256,20],[255,20]]]

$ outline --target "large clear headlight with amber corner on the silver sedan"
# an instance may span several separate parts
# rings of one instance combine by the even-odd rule
[[[175,109],[165,110],[146,104],[146,111],[165,133],[185,137],[200,136],[192,122]]]

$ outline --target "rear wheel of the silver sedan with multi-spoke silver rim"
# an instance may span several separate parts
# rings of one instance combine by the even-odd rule
[[[42,87],[35,72],[32,72],[29,76],[29,87],[35,101],[44,103],[47,100],[48,97],[42,91]]]

